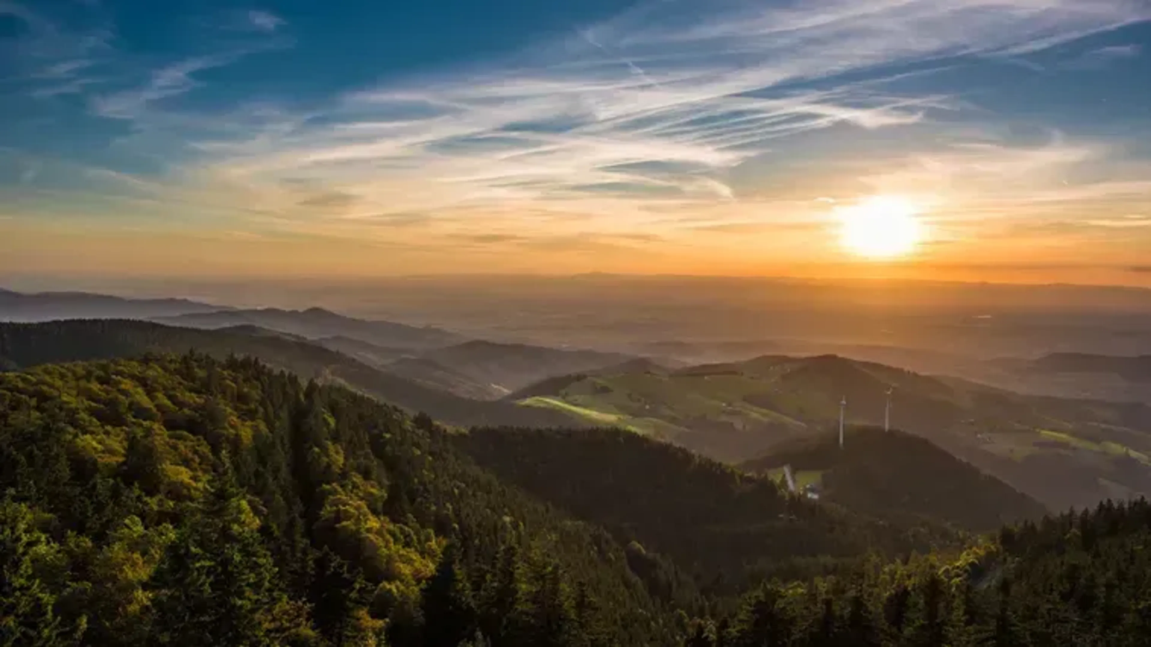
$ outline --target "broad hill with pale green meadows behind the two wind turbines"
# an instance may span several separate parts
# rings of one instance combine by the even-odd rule
[[[1024,396],[837,356],[764,356],[666,372],[556,378],[511,396],[742,462],[847,421],[930,439],[1052,509],[1151,493],[1151,408]]]

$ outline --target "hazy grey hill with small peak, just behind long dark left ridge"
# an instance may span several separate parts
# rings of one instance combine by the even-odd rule
[[[320,307],[220,310],[177,317],[155,317],[153,320],[169,326],[207,329],[250,325],[310,340],[343,336],[384,348],[427,349],[464,341],[460,335],[439,328],[355,319]]]

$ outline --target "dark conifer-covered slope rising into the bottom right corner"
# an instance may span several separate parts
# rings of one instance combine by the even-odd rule
[[[955,561],[767,583],[739,612],[696,623],[685,647],[1143,647],[1149,543],[1151,504],[1106,502],[1007,528]]]

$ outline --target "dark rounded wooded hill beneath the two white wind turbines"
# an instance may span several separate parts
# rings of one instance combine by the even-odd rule
[[[878,427],[788,441],[741,469],[783,478],[791,465],[800,486],[813,485],[824,501],[868,515],[906,517],[990,532],[1037,519],[1047,510],[1007,484],[980,472],[929,440]]]

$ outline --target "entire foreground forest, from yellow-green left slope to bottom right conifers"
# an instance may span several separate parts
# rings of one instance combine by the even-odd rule
[[[251,358],[44,365],[0,373],[0,645],[1151,632],[1142,500],[982,538],[848,503],[623,431],[460,433]]]

